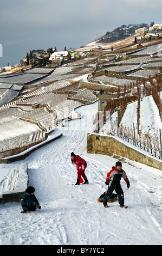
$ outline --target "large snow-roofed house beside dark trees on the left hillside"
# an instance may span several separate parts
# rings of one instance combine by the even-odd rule
[[[54,52],[49,58],[52,65],[61,65],[72,60],[68,51]]]

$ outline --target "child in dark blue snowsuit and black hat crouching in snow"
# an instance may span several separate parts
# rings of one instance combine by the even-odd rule
[[[22,194],[21,206],[23,211],[21,214],[25,214],[27,211],[35,211],[36,209],[41,209],[41,206],[35,197],[35,188],[28,187],[27,190]]]

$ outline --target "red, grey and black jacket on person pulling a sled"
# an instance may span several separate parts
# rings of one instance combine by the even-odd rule
[[[112,182],[119,183],[121,178],[123,178],[125,182],[129,181],[123,169],[116,170],[116,168],[113,166],[111,171],[107,174],[106,182],[109,182],[108,186],[111,186]]]

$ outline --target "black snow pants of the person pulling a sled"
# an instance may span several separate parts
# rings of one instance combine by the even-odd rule
[[[115,190],[116,194],[118,194],[118,202],[120,205],[124,205],[124,192],[122,191],[120,182],[112,182],[111,186],[108,187],[107,193],[103,197],[103,204],[107,204],[107,201],[109,199],[109,196],[113,193]]]

